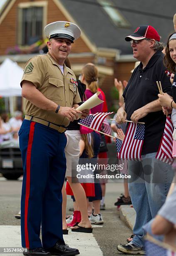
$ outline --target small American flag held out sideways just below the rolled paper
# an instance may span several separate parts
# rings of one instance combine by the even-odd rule
[[[104,118],[112,113],[114,112],[90,114],[86,118],[80,119],[79,123],[86,125],[89,128],[100,131]]]

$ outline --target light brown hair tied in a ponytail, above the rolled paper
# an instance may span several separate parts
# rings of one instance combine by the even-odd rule
[[[82,74],[91,92],[98,92],[98,69],[93,64],[86,64],[82,69]]]

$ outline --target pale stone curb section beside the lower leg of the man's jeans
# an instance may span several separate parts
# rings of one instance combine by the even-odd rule
[[[136,212],[130,205],[120,206],[120,219],[126,223],[126,225],[133,230],[134,223],[136,221]]]

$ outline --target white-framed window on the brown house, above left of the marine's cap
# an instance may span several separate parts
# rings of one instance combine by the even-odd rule
[[[47,1],[20,3],[18,7],[17,43],[21,46],[31,45],[43,38]]]

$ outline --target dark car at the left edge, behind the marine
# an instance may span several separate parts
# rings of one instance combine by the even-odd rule
[[[18,140],[0,143],[0,173],[6,179],[18,179],[23,174]]]

